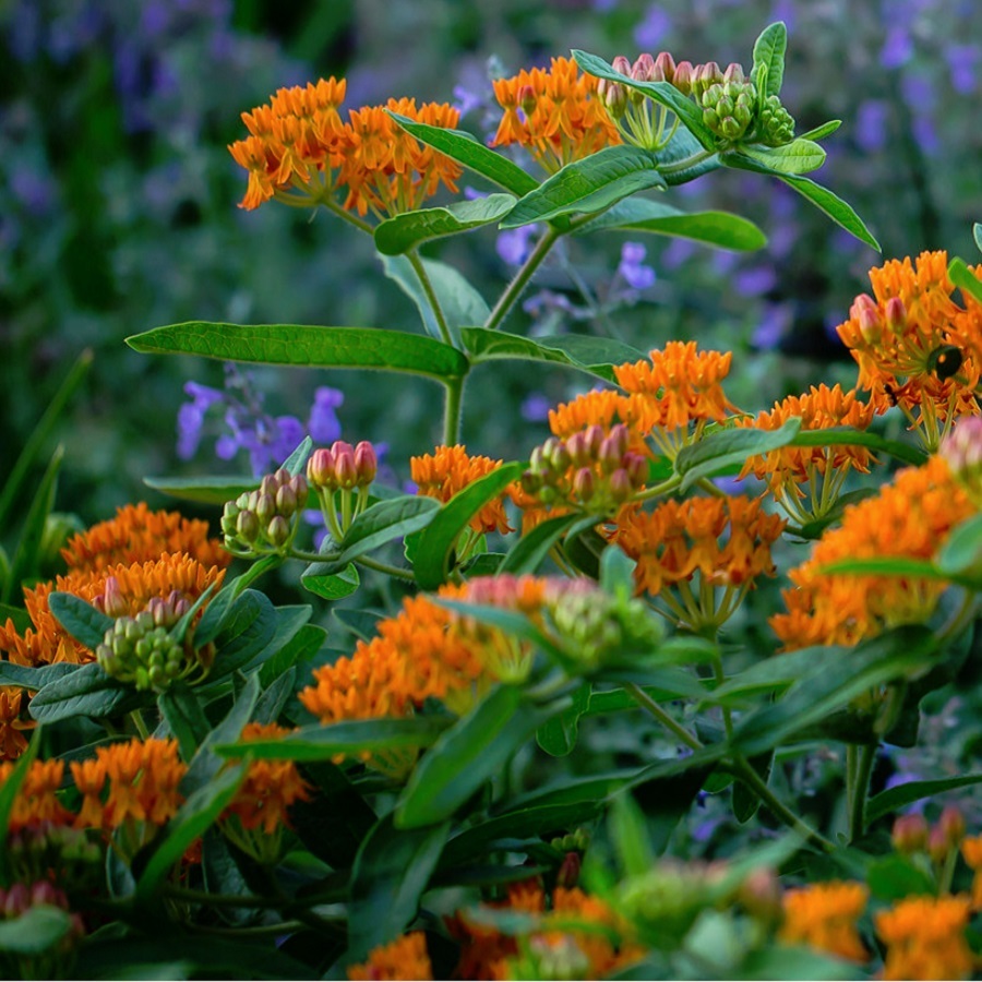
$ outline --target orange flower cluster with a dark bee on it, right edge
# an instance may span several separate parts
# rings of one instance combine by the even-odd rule
[[[955,302],[944,252],[891,260],[870,282],[873,297],[855,299],[839,337],[877,411],[899,406],[933,452],[957,417],[980,412],[982,306]]]

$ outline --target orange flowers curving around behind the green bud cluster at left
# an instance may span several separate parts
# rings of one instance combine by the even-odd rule
[[[154,597],[167,599],[177,592],[194,602],[212,584],[220,586],[225,570],[205,566],[184,553],[164,553],[156,561],[130,565],[106,566],[98,570],[76,570],[58,576],[53,583],[43,583],[24,590],[24,607],[34,623],[21,635],[12,620],[0,627],[0,651],[17,664],[48,664],[67,661],[84,664],[95,655],[71,637],[55,619],[48,597],[56,590],[81,597],[97,607],[105,607],[111,596],[115,616],[135,616]]]

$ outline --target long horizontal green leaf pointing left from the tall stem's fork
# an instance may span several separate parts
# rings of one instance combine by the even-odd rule
[[[212,324],[189,321],[127,338],[135,351],[201,355],[223,361],[300,368],[379,369],[436,381],[467,373],[456,348],[431,337],[381,327],[313,327],[304,324]]]

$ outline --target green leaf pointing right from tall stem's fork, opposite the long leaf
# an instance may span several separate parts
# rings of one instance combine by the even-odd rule
[[[589,337],[585,334],[537,337],[535,339],[494,331],[489,327],[464,327],[460,339],[470,352],[471,362],[501,358],[522,361],[548,361],[567,364],[606,382],[614,381],[613,366],[634,362],[644,355],[614,338]]]

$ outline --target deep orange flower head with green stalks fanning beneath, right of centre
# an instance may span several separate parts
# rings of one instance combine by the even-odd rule
[[[625,510],[613,541],[637,563],[637,591],[658,598],[663,607],[656,608],[666,616],[698,632],[727,621],[758,576],[775,575],[770,549],[783,528],[761,499],[670,499],[651,512]]]

